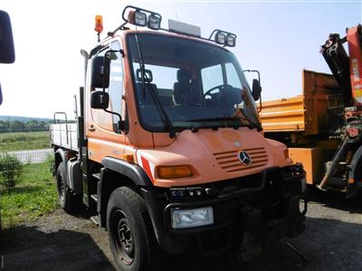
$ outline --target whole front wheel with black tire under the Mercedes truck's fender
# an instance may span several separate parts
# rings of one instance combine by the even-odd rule
[[[157,246],[145,201],[128,187],[110,195],[107,208],[110,250],[119,270],[148,270]]]

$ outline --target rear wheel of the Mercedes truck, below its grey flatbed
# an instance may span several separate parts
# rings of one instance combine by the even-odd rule
[[[71,214],[79,211],[81,208],[81,195],[71,192],[67,182],[64,162],[61,162],[61,164],[58,166],[56,181],[59,204],[61,205],[62,209],[65,212]]]

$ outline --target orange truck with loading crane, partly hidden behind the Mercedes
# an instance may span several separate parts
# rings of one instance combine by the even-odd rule
[[[303,70],[302,95],[262,102],[262,127],[289,146],[308,184],[350,198],[362,191],[362,25],[330,34],[321,52],[333,75]]]

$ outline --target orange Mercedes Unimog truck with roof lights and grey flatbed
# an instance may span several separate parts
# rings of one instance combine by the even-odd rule
[[[160,14],[134,6],[122,17],[81,51],[77,124],[51,126],[62,208],[94,211],[121,270],[143,270],[161,250],[234,249],[248,259],[267,239],[299,235],[305,173],[262,135],[252,97],[259,80],[251,91],[225,48],[236,36],[216,30],[205,39],[171,20],[162,29]]]

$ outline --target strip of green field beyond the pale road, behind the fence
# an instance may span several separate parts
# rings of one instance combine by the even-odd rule
[[[49,132],[19,132],[0,134],[0,152],[49,148]]]

